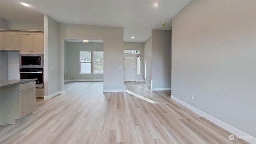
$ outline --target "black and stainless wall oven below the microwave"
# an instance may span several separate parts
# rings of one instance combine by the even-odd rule
[[[36,78],[36,88],[44,87],[43,68],[20,68],[20,79]]]

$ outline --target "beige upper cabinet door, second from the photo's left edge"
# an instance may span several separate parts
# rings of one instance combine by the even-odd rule
[[[20,38],[18,32],[5,32],[6,50],[20,50]]]

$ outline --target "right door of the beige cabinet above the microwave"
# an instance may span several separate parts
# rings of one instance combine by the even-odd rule
[[[33,34],[33,45],[34,52],[44,52],[44,34],[34,33]]]

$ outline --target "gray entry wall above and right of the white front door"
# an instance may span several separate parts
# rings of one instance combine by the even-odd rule
[[[124,50],[140,50],[140,75],[137,75],[136,80],[143,80],[144,67],[144,44],[138,42],[124,42]]]

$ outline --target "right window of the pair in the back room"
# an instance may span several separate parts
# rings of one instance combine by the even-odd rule
[[[94,51],[94,74],[103,74],[104,72],[104,62],[103,62],[103,52],[102,51]]]

